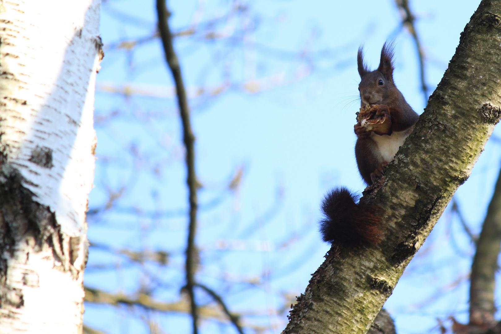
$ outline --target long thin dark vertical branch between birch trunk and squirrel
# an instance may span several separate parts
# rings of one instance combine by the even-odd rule
[[[196,211],[197,211],[197,181],[195,175],[195,136],[191,131],[189,118],[188,100],[184,89],[181,68],[177,59],[174,47],[172,45],[172,35],[168,24],[170,13],[167,11],[165,0],[157,0],[156,3],[158,14],[158,30],[162,38],[162,45],[165,52],[165,60],[169,65],[172,77],[176,85],[177,103],[179,105],[179,114],[183,125],[183,141],[186,147],[186,183],[189,189],[189,229],[188,229],[188,244],[186,248],[186,289],[191,303],[191,317],[193,322],[193,334],[198,333],[197,328],[197,307],[195,302],[195,294],[193,291],[194,274],[195,274],[195,232],[196,232]]]

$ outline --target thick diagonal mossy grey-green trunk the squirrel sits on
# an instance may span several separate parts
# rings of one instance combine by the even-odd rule
[[[383,214],[379,246],[332,247],[298,298],[284,333],[365,333],[501,117],[501,1],[466,25],[414,132],[364,192]]]

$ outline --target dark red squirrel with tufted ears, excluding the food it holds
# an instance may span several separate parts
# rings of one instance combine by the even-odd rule
[[[358,49],[357,65],[361,78],[358,85],[361,106],[379,105],[376,115],[386,114],[391,119],[391,131],[387,135],[378,135],[359,124],[355,125],[358,170],[370,186],[383,175],[383,168],[393,160],[398,148],[414,129],[419,115],[393,82],[391,43],[383,45],[377,70],[369,71],[364,64],[362,47]],[[324,241],[339,245],[370,245],[381,241],[380,209],[356,203],[356,200],[357,196],[344,187],[333,189],[326,195],[322,203],[325,219],[320,222]]]

